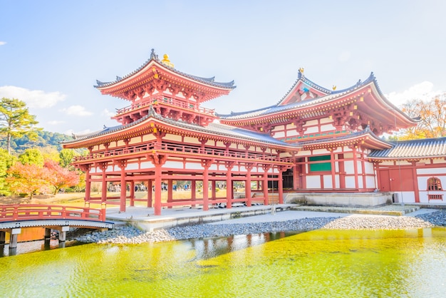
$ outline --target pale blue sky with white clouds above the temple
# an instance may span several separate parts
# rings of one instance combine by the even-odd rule
[[[151,48],[177,70],[235,81],[204,104],[217,113],[277,103],[299,67],[326,88],[375,73],[395,104],[446,91],[446,1],[0,0],[0,96],[19,98],[39,127],[86,133],[127,101],[102,96]]]

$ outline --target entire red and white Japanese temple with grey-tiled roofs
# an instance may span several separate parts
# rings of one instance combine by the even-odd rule
[[[393,193],[404,202],[442,201],[446,138],[395,143],[380,138],[417,120],[383,96],[373,73],[336,91],[308,80],[301,68],[276,105],[218,115],[202,103],[229,94],[233,81],[182,73],[167,55],[160,60],[152,50],[133,73],[97,81],[95,88],[130,105],[117,110],[117,126],[63,142],[64,148],[88,148],[88,155],[73,161],[86,173],[87,202],[118,204],[123,212],[138,200],[135,183],[147,185],[144,200],[155,215],[163,207],[185,205],[203,210],[266,205],[271,191],[279,203],[297,198],[379,205]],[[180,181],[190,183],[189,198],[174,199]],[[93,182],[101,183],[102,197],[91,197]],[[107,197],[111,183],[122,186],[118,200]],[[234,191],[236,184],[244,185],[243,193]],[[225,197],[219,197],[220,187],[226,187]]]

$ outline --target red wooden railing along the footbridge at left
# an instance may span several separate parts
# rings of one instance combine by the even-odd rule
[[[1,205],[0,222],[13,220],[95,220],[105,222],[105,208],[60,205]]]

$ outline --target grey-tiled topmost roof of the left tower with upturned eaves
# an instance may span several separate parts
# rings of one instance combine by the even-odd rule
[[[177,69],[173,68],[173,64],[167,64],[167,63],[162,63],[162,61],[158,58],[158,55],[155,53],[155,50],[152,48],[152,53],[150,53],[150,58],[145,61],[145,63],[142,64],[142,66],[140,66],[139,68],[137,68],[135,71],[128,73],[127,75],[120,77],[120,76],[116,76],[115,81],[109,81],[109,82],[102,82],[102,81],[98,81],[96,80],[97,85],[95,85],[95,88],[105,88],[105,87],[110,87],[113,86],[117,83],[120,83],[121,81],[125,81],[127,78],[130,78],[131,76],[134,76],[136,73],[139,73],[140,71],[142,71],[144,68],[146,68],[147,66],[150,65],[150,63],[157,63],[159,66],[162,66],[163,68],[167,68],[170,71],[173,71],[174,73],[176,73],[177,75],[180,76],[184,76],[186,78],[190,78],[194,81],[197,81],[199,83],[205,83],[209,86],[215,86],[215,87],[219,87],[219,88],[227,88],[227,89],[234,89],[236,88],[236,86],[234,86],[234,81],[230,81],[227,83],[220,83],[220,82],[216,82],[214,81],[214,76],[212,78],[202,78],[199,76],[192,76],[188,73],[183,73],[181,71],[178,71]]]

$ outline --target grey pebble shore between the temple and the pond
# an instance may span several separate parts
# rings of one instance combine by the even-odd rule
[[[446,211],[440,210],[415,217],[314,217],[283,222],[256,222],[247,224],[193,225],[174,227],[167,230],[145,232],[132,226],[115,227],[105,232],[87,232],[82,235],[67,235],[79,242],[139,244],[164,242],[202,237],[227,237],[264,232],[301,231],[301,230],[404,230],[433,226],[446,226]],[[79,233],[78,233],[79,234]]]

